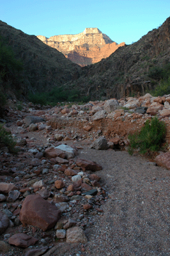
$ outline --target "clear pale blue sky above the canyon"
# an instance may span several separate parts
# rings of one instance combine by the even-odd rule
[[[98,28],[118,44],[132,44],[169,16],[170,0],[0,0],[0,20],[47,38]]]

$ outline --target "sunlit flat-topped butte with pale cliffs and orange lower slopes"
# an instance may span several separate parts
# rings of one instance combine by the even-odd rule
[[[43,43],[62,52],[66,58],[81,67],[109,57],[125,43],[116,44],[98,28],[86,28],[77,35],[37,36]]]

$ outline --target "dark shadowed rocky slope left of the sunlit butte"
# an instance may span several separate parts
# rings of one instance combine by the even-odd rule
[[[17,88],[22,96],[27,96],[28,92],[47,91],[77,76],[80,69],[78,65],[67,60],[61,52],[43,44],[36,36],[27,35],[2,21],[0,36],[6,45],[12,47],[15,57],[23,63],[24,70],[20,71]],[[7,85],[13,90],[10,79],[6,81],[4,87]]]

